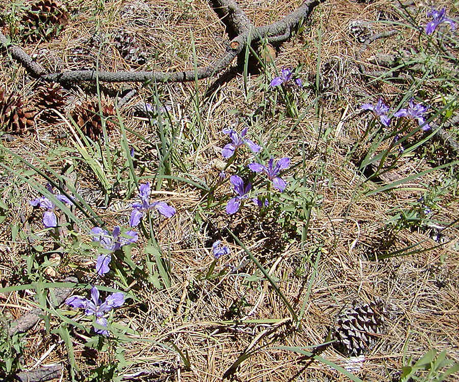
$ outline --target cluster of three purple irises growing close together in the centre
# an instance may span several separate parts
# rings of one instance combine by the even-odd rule
[[[253,143],[247,138],[244,138],[247,134],[247,130],[247,127],[244,128],[241,131],[241,134],[238,134],[238,132],[233,129],[225,129],[222,131],[223,133],[230,135],[230,138],[233,141],[232,143],[224,146],[222,150],[222,156],[224,158],[232,157],[236,149],[243,145],[247,145],[249,149],[254,153],[257,153],[261,150],[259,145]],[[265,166],[262,163],[252,162],[248,165],[248,168],[253,172],[266,174],[268,180],[272,182],[273,187],[278,189],[280,192],[283,192],[287,187],[287,183],[281,177],[279,177],[279,174],[281,173],[281,170],[287,169],[289,164],[290,159],[287,157],[279,159],[275,165],[274,159],[270,158],[268,161],[268,166]],[[249,198],[249,193],[252,189],[252,185],[250,183],[244,184],[244,181],[238,175],[231,176],[230,182],[233,184],[236,196],[231,198],[230,201],[228,201],[226,204],[226,213],[228,215],[239,211],[242,201]],[[266,199],[262,201],[258,198],[253,198],[252,201],[259,207],[266,207],[268,205],[268,201]]]

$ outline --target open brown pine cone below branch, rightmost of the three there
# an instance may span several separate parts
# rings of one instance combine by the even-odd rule
[[[113,106],[102,105],[102,113],[104,117],[114,116]],[[71,113],[71,117],[78,124],[81,131],[86,137],[92,141],[97,141],[103,136],[102,121],[99,113],[99,103],[97,100],[87,101],[80,106],[75,107]],[[107,131],[115,127],[113,122],[106,120]]]

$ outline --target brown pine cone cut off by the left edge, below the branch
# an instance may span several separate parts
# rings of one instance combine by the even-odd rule
[[[5,94],[0,89],[0,129],[12,134],[23,134],[34,127],[35,112],[24,107],[19,95]]]

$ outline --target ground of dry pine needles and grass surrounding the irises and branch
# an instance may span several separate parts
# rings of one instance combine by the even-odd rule
[[[238,4],[259,26],[301,2]],[[432,5],[457,20],[457,3]],[[0,29],[52,73],[192,70],[230,42],[205,0],[69,0],[53,11],[59,26],[38,32],[30,6],[4,5]],[[411,371],[434,380],[452,365],[443,356],[459,362],[459,45],[447,22],[425,33],[430,6],[327,0],[274,60],[189,83],[53,93],[0,50],[0,375],[61,365],[53,380],[398,381],[427,354],[430,369]],[[283,67],[302,87],[270,86]],[[118,107],[126,89],[137,93]],[[361,108],[379,97],[390,126]],[[393,116],[412,97],[429,106],[429,130]],[[139,102],[155,113],[135,112]],[[244,127],[262,149],[224,158],[222,130]],[[290,158],[282,193],[247,167],[270,157]],[[252,190],[228,214],[234,175]],[[55,228],[30,204],[50,197],[48,182],[79,206],[56,202]],[[175,213],[152,208],[129,228],[146,182]],[[264,197],[267,207],[251,201]],[[110,251],[95,226],[138,234],[101,276],[96,258]],[[229,251],[214,256],[219,240]],[[51,303],[55,287],[86,298],[92,286],[125,298],[106,336],[91,314]],[[359,354],[336,346],[338,317],[379,299],[378,317],[362,318],[377,321],[373,341]],[[40,319],[11,335],[37,307]]]

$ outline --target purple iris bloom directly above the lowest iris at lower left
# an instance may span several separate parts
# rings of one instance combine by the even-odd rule
[[[109,253],[101,254],[97,257],[96,262],[96,271],[97,275],[103,276],[110,270],[110,261],[112,261],[112,252],[115,252],[123,245],[132,244],[137,241],[137,232],[136,231],[127,231],[124,236],[120,235],[121,231],[119,226],[113,228],[113,232],[109,233],[108,231],[100,228],[94,227],[91,229],[91,234],[93,235],[92,240],[98,241],[102,248],[109,251]]]

